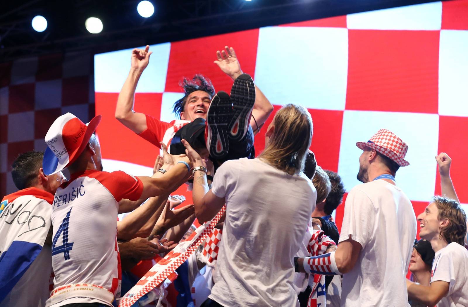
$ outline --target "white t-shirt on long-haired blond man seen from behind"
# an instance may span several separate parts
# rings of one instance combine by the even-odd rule
[[[312,182],[243,158],[224,162],[212,192],[227,211],[209,297],[229,307],[299,307],[293,257],[315,207]]]

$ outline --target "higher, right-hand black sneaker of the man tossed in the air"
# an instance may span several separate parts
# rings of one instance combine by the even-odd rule
[[[255,103],[255,85],[247,73],[241,74],[231,89],[234,114],[227,126],[229,137],[240,141],[249,129],[250,114]]]

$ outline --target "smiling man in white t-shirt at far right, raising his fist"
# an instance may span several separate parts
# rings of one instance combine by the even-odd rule
[[[440,153],[436,161],[442,194],[448,197],[434,197],[417,217],[421,229],[419,236],[429,241],[435,252],[431,282],[430,285],[418,285],[407,280],[408,297],[426,306],[468,306],[468,251],[463,247],[467,216],[459,205],[450,178],[452,159],[446,153]]]

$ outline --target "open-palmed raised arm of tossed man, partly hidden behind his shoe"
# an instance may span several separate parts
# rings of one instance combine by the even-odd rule
[[[241,65],[237,59],[237,55],[233,47],[224,47],[225,50],[216,51],[217,60],[214,61],[216,65],[232,80],[236,80],[243,72]],[[252,118],[250,119],[250,126],[254,135],[260,131],[260,128],[265,123],[267,118],[273,112],[273,106],[268,99],[263,95],[262,91],[255,86],[255,103],[252,110]],[[255,118],[255,119],[254,119]]]

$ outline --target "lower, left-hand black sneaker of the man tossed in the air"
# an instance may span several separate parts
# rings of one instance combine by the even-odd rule
[[[227,125],[233,116],[231,97],[219,91],[213,96],[206,114],[206,148],[213,158],[224,158],[229,150]]]

